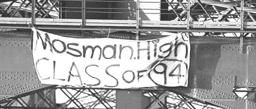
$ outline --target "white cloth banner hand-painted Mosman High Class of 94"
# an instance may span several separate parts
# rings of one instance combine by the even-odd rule
[[[185,33],[138,41],[32,30],[34,65],[42,84],[121,89],[188,84],[190,44]]]

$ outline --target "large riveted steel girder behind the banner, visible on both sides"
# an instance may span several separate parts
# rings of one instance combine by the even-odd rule
[[[38,81],[30,49],[30,34],[3,34],[5,35],[1,35],[3,37],[0,38],[0,100],[53,87],[42,85]],[[153,37],[140,37],[142,40],[151,38]],[[234,86],[256,84],[253,78],[256,65],[256,38],[244,39],[243,47],[246,49],[243,53],[239,52],[239,38],[190,39],[189,85],[165,89],[227,109],[243,109],[245,106],[247,109],[255,109],[255,102],[235,96],[232,90]]]

